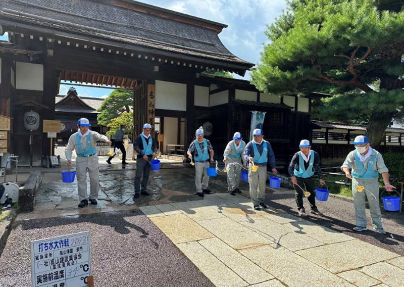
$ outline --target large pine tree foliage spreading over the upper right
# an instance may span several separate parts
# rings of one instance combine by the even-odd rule
[[[270,43],[251,82],[264,92],[335,94],[318,114],[367,123],[371,143],[378,146],[404,106],[401,2],[291,0],[268,26]]]

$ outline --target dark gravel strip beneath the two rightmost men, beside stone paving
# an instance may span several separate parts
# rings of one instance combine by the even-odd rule
[[[282,209],[290,214],[297,215],[293,190],[271,192],[267,194],[266,203],[271,207]],[[306,213],[310,214],[309,201],[304,199],[304,205]],[[356,226],[353,202],[329,197],[327,202],[317,201],[317,207],[324,213],[324,216],[321,217],[310,214],[307,220],[404,256],[403,213],[387,212],[381,207],[383,227],[387,234],[379,234],[372,228],[369,209],[366,210],[368,217],[368,231],[356,232],[352,230],[352,228]]]

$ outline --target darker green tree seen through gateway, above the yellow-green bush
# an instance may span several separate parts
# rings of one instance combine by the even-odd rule
[[[133,91],[114,89],[98,109],[98,112],[101,112],[97,116],[98,124],[108,126],[123,112],[129,113],[130,108],[133,109]]]

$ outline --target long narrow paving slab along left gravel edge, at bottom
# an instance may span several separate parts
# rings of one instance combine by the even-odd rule
[[[223,262],[213,256],[208,250],[197,242],[188,242],[178,244],[181,250],[189,260],[195,264],[205,276],[217,287],[238,287],[248,286],[249,284],[234,273]]]

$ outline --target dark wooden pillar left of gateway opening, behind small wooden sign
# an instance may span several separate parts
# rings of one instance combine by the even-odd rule
[[[55,120],[55,97],[58,94],[59,73],[55,66],[49,62],[43,65],[43,105],[49,107],[48,110],[43,110],[43,120]],[[77,121],[78,119],[73,119]],[[39,127],[42,129],[42,125]],[[47,133],[42,133],[42,155],[51,156],[54,153],[55,143],[47,137]],[[51,154],[52,153],[52,154]]]

